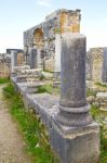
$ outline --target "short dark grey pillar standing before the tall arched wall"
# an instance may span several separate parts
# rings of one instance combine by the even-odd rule
[[[30,51],[30,68],[37,68],[37,49],[31,49]]]

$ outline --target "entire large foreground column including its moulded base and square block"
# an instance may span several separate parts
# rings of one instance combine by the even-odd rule
[[[50,129],[61,163],[98,163],[99,126],[85,98],[85,37],[62,36],[61,99]]]

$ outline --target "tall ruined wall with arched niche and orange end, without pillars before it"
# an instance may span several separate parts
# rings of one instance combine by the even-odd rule
[[[43,50],[45,66],[48,67],[50,60],[53,59],[51,62],[53,65],[49,66],[49,70],[54,67],[55,63],[61,62],[55,62],[56,59],[59,59],[55,57],[55,54],[58,54],[55,47],[56,34],[62,39],[64,33],[80,33],[80,10],[62,9],[48,15],[43,23],[24,33],[25,53],[29,53],[30,55],[31,48]]]

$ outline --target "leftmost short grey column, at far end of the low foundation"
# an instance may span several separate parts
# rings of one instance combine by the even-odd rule
[[[17,65],[17,51],[11,51],[11,73],[14,73],[14,66]]]

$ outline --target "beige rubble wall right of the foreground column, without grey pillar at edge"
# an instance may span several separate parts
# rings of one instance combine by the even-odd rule
[[[92,48],[88,52],[88,78],[103,80],[104,48]]]

